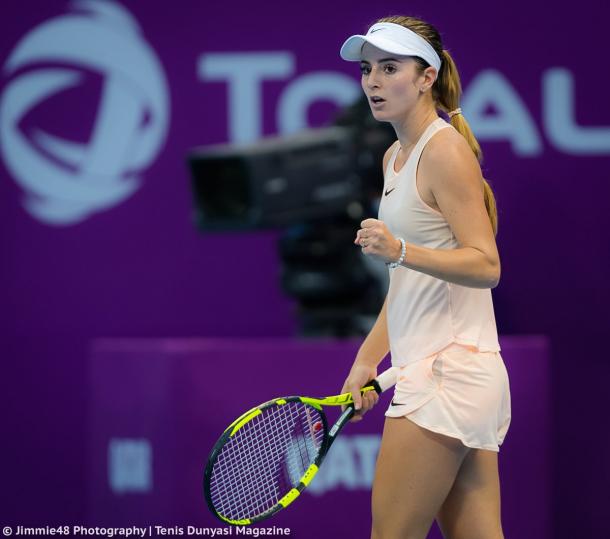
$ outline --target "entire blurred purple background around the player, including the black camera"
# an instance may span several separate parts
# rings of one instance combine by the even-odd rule
[[[5,5],[2,523],[220,525],[201,477],[224,426],[338,391],[385,293],[351,240],[394,140],[338,51],[393,14],[441,32],[498,203],[506,535],[610,536],[608,9],[592,0]],[[381,412],[303,501],[362,507],[355,536]],[[296,505],[281,522],[310,536]]]

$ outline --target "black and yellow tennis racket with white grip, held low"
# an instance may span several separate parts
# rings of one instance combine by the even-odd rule
[[[381,394],[396,383],[390,368],[361,389]],[[323,406],[348,406],[328,428]],[[216,442],[203,489],[212,513],[229,524],[259,522],[288,507],[315,477],[335,438],[354,415],[351,393],[283,397],[238,417]]]

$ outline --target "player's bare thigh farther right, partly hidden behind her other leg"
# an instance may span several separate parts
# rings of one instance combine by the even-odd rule
[[[501,539],[498,453],[472,449],[438,516],[447,539]]]

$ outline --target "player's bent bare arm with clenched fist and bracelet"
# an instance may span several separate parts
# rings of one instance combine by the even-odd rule
[[[407,243],[402,265],[462,286],[494,288],[500,280],[500,257],[485,208],[481,169],[466,140],[455,135],[461,140],[454,138],[453,144],[430,141],[429,151],[421,158],[420,174],[425,170],[430,178],[432,194],[459,247],[430,249]],[[400,241],[382,221],[363,221],[355,243],[362,244],[360,240],[367,245],[364,254],[386,262],[400,257]]]

